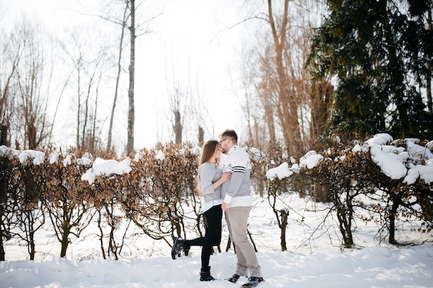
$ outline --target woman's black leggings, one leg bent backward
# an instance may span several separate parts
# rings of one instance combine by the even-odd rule
[[[221,243],[221,219],[223,210],[216,205],[203,213],[206,220],[205,236],[193,240],[186,240],[185,246],[201,246],[201,268],[208,269],[212,247]]]

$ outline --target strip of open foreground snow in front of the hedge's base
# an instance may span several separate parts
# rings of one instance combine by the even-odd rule
[[[168,252],[167,252],[168,254]],[[432,287],[431,246],[389,250],[370,247],[351,253],[266,251],[257,254],[265,282],[259,287]],[[53,258],[44,262],[1,263],[1,287],[240,287],[223,280],[200,282],[199,256],[73,262]],[[236,257],[217,253],[212,273],[231,276]],[[241,278],[243,282],[246,278]]]

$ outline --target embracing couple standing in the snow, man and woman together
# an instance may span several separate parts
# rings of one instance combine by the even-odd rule
[[[227,159],[219,166],[221,152]],[[236,247],[237,269],[227,280],[236,283],[241,276],[250,277],[243,288],[256,287],[264,281],[254,247],[248,238],[248,215],[252,209],[250,189],[250,158],[246,151],[237,146],[237,134],[225,130],[219,140],[211,139],[203,145],[199,160],[199,181],[197,190],[202,196],[202,210],[205,216],[205,236],[194,240],[175,238],[172,258],[183,249],[201,246],[201,281],[211,281],[210,254],[212,247],[221,242],[221,219],[225,212],[230,239]]]

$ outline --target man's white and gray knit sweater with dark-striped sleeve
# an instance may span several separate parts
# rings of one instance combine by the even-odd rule
[[[232,178],[223,183],[221,189],[223,201],[228,204],[228,208],[252,206],[251,162],[248,153],[237,145],[232,146],[223,163],[223,172],[232,173]]]

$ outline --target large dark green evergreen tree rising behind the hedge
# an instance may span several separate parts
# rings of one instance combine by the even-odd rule
[[[416,4],[418,15],[432,7],[431,0],[422,2],[421,8]],[[411,18],[407,9],[411,3],[327,3],[330,14],[313,37],[310,61],[318,76],[329,73],[337,81],[329,129],[360,135],[387,132],[394,137],[431,137],[431,115],[425,110],[420,86],[413,81],[414,75],[425,73],[421,69],[425,51],[416,48],[430,42],[421,25]],[[411,32],[414,24],[419,33]],[[420,64],[414,64],[413,57]]]

